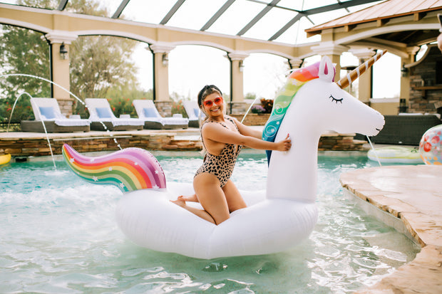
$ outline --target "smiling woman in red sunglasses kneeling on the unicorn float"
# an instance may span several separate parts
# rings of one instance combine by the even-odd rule
[[[201,126],[202,144],[207,154],[193,178],[195,194],[179,196],[173,203],[218,225],[229,219],[231,212],[247,207],[230,179],[242,145],[255,149],[288,151],[292,142],[289,135],[280,142],[261,140],[261,132],[224,115],[222,93],[215,85],[205,85],[200,90],[198,105],[207,115]],[[204,210],[187,206],[186,201],[200,202]]]

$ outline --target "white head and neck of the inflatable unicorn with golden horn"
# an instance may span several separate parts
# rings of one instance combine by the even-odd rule
[[[279,114],[279,120],[274,120],[272,112],[273,118],[271,116],[269,122],[279,126],[274,140],[283,140],[289,134],[292,149],[272,153],[267,176],[267,198],[314,201],[317,149],[321,135],[333,130],[374,136],[384,126],[384,117],[379,112],[342,90],[341,85],[351,83],[351,78],[334,83],[332,68],[332,61],[324,56],[317,69],[317,78],[302,82],[290,99],[284,115]],[[356,76],[363,71],[356,69]],[[264,133],[271,125],[269,122],[264,127]]]

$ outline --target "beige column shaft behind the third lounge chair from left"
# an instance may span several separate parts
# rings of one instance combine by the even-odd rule
[[[169,100],[169,52],[175,48],[168,44],[152,44],[149,46],[153,53],[153,87],[154,100]]]

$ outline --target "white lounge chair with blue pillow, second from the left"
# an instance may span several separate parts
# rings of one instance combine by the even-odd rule
[[[130,117],[115,117],[111,110],[111,105],[104,98],[86,98],[84,102],[89,110],[91,130],[143,130],[143,120]],[[106,129],[103,127],[103,124],[106,125]]]

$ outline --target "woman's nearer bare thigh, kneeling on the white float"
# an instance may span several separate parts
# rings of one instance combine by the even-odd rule
[[[197,199],[207,213],[215,220],[215,224],[221,224],[230,217],[226,196],[220,187],[220,181],[213,174],[203,172],[193,179],[193,189]]]

